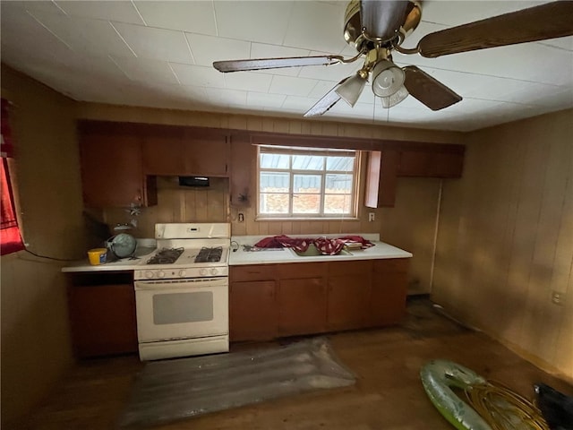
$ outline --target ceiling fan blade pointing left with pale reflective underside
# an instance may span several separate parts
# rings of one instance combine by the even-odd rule
[[[303,65],[331,65],[343,60],[342,56],[291,56],[286,58],[256,58],[253,60],[215,61],[219,72],[244,72],[248,70],[280,69]]]

